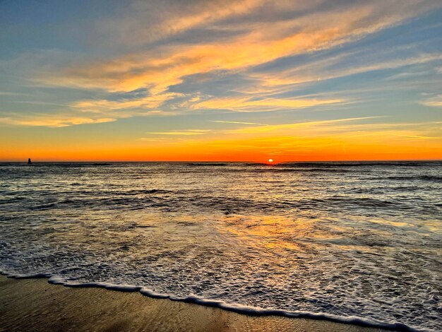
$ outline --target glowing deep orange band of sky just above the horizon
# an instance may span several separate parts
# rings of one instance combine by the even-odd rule
[[[309,130],[309,129],[304,129]],[[273,131],[271,131],[273,132]],[[400,132],[401,133],[401,132]],[[61,143],[48,146],[44,142],[29,143],[26,148],[13,144],[4,148],[4,160],[133,160],[133,161],[253,161],[275,162],[308,160],[434,160],[442,159],[438,141],[429,144],[423,138],[402,137],[395,132],[384,139],[385,131],[373,133],[368,138],[352,134],[335,136],[265,136],[229,138],[203,141],[201,139],[177,139],[170,141],[147,138],[132,146],[126,142],[113,143]],[[249,134],[250,135],[250,134]],[[376,135],[381,138],[376,139]],[[241,136],[235,134],[234,136]],[[424,144],[422,142],[424,141]],[[146,144],[148,142],[148,144]]]

